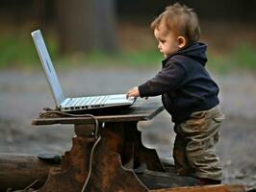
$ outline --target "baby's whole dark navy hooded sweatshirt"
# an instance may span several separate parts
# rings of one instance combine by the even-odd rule
[[[218,105],[218,85],[205,69],[207,46],[197,42],[163,60],[162,70],[139,86],[141,97],[162,95],[174,123]]]

